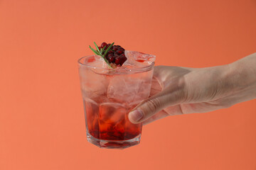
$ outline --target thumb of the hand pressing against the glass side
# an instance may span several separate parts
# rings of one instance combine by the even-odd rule
[[[134,124],[142,123],[164,108],[181,103],[183,101],[183,94],[183,90],[180,88],[164,89],[159,94],[142,101],[129,113],[128,118]]]

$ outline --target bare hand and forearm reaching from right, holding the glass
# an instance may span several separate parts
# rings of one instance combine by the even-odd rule
[[[206,68],[156,66],[148,99],[129,113],[146,125],[169,115],[206,113],[256,98],[256,53]]]

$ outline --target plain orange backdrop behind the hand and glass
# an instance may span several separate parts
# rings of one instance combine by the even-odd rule
[[[1,170],[256,169],[255,100],[156,121],[128,149],[87,142],[77,60],[93,41],[228,64],[256,52],[256,1],[0,0]]]

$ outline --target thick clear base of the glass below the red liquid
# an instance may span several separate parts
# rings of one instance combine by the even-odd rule
[[[90,133],[87,132],[87,141],[96,145],[100,148],[107,149],[125,149],[127,147],[132,147],[134,145],[138,145],[140,142],[141,135],[134,137],[132,140],[99,140]]]

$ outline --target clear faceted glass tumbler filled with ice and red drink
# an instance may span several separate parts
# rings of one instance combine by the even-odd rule
[[[140,142],[142,123],[131,123],[128,113],[149,97],[155,56],[127,55],[119,69],[102,68],[97,55],[78,60],[87,141],[97,147],[124,149]]]

